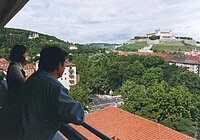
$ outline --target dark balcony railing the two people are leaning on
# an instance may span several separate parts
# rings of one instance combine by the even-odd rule
[[[1,80],[0,82],[0,93],[0,96],[2,97],[3,95],[2,98],[5,98],[4,95],[7,93],[7,83],[5,80]],[[2,106],[0,105],[0,107]],[[85,122],[82,124],[82,126],[103,140],[112,140],[110,137],[106,136],[105,134]],[[53,140],[66,140],[66,138],[68,140],[87,140],[86,137],[84,137],[81,133],[79,133],[68,124],[62,124],[59,131],[60,133],[57,132]]]

